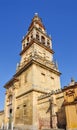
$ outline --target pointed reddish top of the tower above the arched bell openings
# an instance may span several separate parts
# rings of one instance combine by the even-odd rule
[[[43,28],[45,30],[45,27],[42,23],[42,19],[38,16],[38,13],[35,13],[33,19],[32,19],[32,22],[28,28],[28,31],[35,25],[35,24],[38,24],[40,28]]]

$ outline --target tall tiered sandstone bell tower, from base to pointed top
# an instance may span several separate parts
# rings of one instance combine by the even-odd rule
[[[5,127],[38,130],[38,96],[60,89],[52,39],[36,13],[22,39],[16,74],[5,84]]]

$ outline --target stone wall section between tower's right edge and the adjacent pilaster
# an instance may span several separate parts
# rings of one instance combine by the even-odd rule
[[[50,104],[48,98],[38,100],[39,129],[50,128]]]

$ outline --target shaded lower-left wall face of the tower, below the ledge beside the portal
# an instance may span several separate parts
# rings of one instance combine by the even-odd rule
[[[16,100],[15,125],[32,125],[32,98],[32,93],[29,93]]]

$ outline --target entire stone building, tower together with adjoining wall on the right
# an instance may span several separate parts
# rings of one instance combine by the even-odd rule
[[[4,85],[6,95],[2,127],[7,130],[77,128],[76,108],[72,108],[76,105],[76,96],[73,99],[72,94],[77,95],[73,90],[77,89],[77,83],[73,80],[61,89],[61,73],[53,55],[52,38],[47,34],[42,19],[35,13],[22,39],[21,59],[16,73]],[[74,110],[76,121],[73,122],[68,109],[69,112]],[[74,125],[70,124],[67,113]]]

